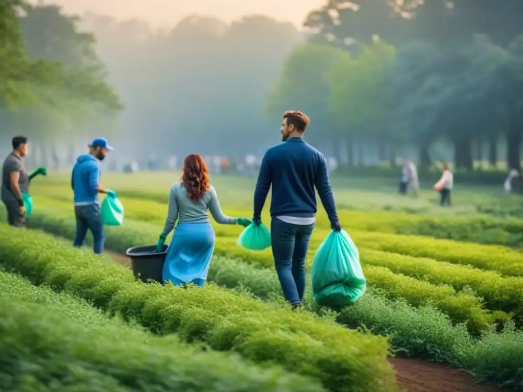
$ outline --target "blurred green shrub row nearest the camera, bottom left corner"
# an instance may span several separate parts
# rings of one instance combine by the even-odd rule
[[[0,390],[322,392],[308,377],[202,351],[0,273]]]

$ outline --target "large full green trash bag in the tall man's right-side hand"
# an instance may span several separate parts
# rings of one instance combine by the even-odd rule
[[[312,262],[312,292],[320,305],[344,306],[359,299],[367,288],[359,252],[345,230],[332,231]]]

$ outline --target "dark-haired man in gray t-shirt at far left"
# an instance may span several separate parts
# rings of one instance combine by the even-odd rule
[[[27,137],[15,136],[11,142],[13,151],[5,158],[2,168],[2,201],[7,210],[9,225],[24,227],[26,206],[22,192],[29,193],[29,184],[38,175],[47,176],[47,170],[39,167],[27,174],[24,157],[29,153]]]

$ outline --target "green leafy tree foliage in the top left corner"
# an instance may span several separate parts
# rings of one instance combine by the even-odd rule
[[[95,55],[93,36],[79,33],[76,20],[61,14],[59,7],[3,2],[0,19],[0,107],[36,106],[10,114],[15,123],[22,122],[21,128],[38,124],[34,139],[62,129],[65,113],[78,121],[93,106],[107,111],[122,108]],[[32,123],[24,126],[28,119]]]

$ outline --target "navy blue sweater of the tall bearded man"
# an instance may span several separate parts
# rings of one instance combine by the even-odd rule
[[[316,187],[331,224],[338,221],[325,157],[301,137],[291,137],[265,153],[254,191],[255,220],[260,218],[271,185],[271,216],[314,216]]]

